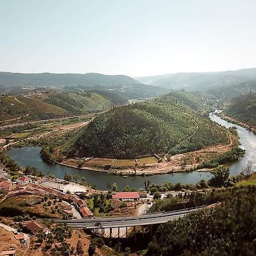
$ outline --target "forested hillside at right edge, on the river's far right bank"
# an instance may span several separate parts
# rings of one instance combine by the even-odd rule
[[[256,93],[233,98],[225,114],[247,125],[256,126]]]

